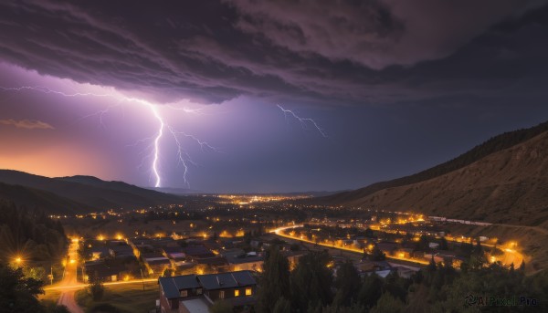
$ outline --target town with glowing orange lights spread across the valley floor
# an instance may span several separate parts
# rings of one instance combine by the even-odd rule
[[[430,264],[458,269],[478,249],[487,264],[524,264],[514,240],[453,231],[487,223],[299,201],[306,197],[265,198],[198,196],[186,204],[52,215],[71,238],[63,264],[76,279],[67,284],[63,274],[64,283],[47,292],[94,283],[142,285],[156,289],[151,312],[201,312],[220,299],[248,311],[272,247],[290,269],[302,256],[326,252],[334,276],[350,262],[362,277],[411,278]]]

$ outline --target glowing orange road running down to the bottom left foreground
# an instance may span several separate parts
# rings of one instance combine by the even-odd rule
[[[76,280],[78,268],[78,241],[72,241],[68,247],[68,260],[65,266],[63,279],[57,284],[49,288],[58,287],[62,290],[58,300],[58,305],[63,305],[68,308],[71,313],[84,313],[84,310],[79,307],[74,298],[74,293],[78,289],[79,284]],[[76,289],[73,287],[77,287]]]

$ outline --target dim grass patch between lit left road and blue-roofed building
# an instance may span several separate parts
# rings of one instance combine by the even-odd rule
[[[156,282],[123,284],[105,286],[105,294],[100,301],[93,301],[86,289],[80,289],[76,292],[76,300],[80,307],[85,311],[99,304],[108,303],[122,312],[128,313],[148,313],[156,308],[156,299],[158,298],[158,284]]]

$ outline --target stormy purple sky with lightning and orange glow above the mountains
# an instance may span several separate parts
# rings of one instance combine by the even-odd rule
[[[548,0],[4,1],[0,168],[338,191],[548,120]]]

